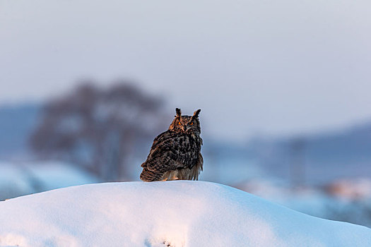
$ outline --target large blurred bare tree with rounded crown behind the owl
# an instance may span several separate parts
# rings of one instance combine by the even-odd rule
[[[30,138],[40,157],[78,164],[105,181],[127,178],[127,158],[163,128],[163,100],[121,80],[108,89],[85,81],[45,104]]]

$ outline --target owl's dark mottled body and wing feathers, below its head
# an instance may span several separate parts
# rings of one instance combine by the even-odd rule
[[[162,177],[167,171],[192,169],[194,166],[197,170],[202,169],[201,145],[202,139],[198,134],[165,131],[153,140],[146,162],[141,164],[143,172],[148,170],[153,176]]]

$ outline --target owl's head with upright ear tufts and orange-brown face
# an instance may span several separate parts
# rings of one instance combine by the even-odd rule
[[[201,133],[201,126],[199,121],[199,113],[201,112],[201,109],[196,110],[193,116],[182,116],[182,112],[180,112],[179,108],[175,109],[175,112],[177,112],[177,114],[175,115],[175,119],[169,126],[170,131],[189,134]]]

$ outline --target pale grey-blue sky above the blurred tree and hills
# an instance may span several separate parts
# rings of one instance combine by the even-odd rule
[[[201,108],[226,140],[351,126],[371,119],[371,1],[0,0],[0,104],[87,77]]]

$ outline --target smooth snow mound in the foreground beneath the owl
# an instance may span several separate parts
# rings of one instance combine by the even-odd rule
[[[0,246],[370,246],[371,229],[202,181],[98,183],[0,202]]]

